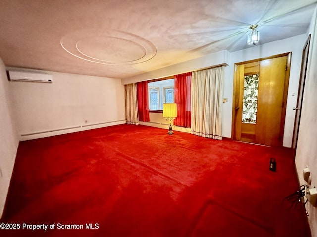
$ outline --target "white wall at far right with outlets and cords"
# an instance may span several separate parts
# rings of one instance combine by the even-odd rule
[[[311,34],[309,60],[307,65],[305,89],[302,104],[301,121],[296,150],[296,168],[300,184],[306,184],[303,179],[303,169],[311,171],[311,187],[317,187],[317,8],[315,9],[308,34]],[[309,213],[308,221],[312,237],[317,237],[317,208],[306,204]]]

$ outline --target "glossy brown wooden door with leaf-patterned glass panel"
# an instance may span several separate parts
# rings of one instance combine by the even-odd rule
[[[289,58],[286,54],[236,65],[233,139],[282,146],[288,64]],[[252,83],[249,83],[251,80]],[[246,91],[250,85],[253,90],[248,94]]]

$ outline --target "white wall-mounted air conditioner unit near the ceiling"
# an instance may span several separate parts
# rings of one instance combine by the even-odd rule
[[[8,79],[11,81],[31,81],[52,83],[52,75],[24,71],[8,71]]]

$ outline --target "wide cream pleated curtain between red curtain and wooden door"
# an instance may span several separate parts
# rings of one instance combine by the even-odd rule
[[[223,71],[221,66],[192,74],[192,134],[222,139]]]

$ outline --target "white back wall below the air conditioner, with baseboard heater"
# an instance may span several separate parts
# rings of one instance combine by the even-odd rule
[[[53,83],[10,82],[21,140],[126,122],[120,79],[47,73]]]

